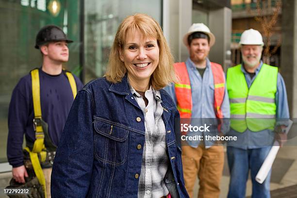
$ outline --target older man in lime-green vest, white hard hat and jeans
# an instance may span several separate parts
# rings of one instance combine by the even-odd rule
[[[249,29],[240,38],[243,63],[228,69],[227,89],[231,107],[231,132],[241,141],[228,144],[230,169],[228,198],[243,198],[250,169],[253,198],[270,198],[270,176],[261,184],[255,177],[275,137],[285,140],[289,118],[287,94],[278,67],[261,61],[263,38]],[[278,118],[276,121],[275,118]],[[276,127],[275,126],[279,126]],[[279,133],[275,129],[279,128]]]

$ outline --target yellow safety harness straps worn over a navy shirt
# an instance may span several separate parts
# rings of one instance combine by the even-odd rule
[[[70,83],[73,98],[75,99],[75,96],[77,94],[77,88],[76,88],[74,77],[68,71],[65,71],[65,73]],[[42,114],[41,114],[41,103],[40,103],[40,82],[39,82],[39,70],[37,68],[31,71],[31,77],[32,77],[32,97],[33,97],[33,108],[34,108],[33,126],[34,126],[36,140],[34,141],[32,150],[30,150],[29,147],[26,147],[25,150],[27,150],[30,154],[30,159],[33,165],[35,175],[39,183],[42,185],[45,198],[46,198],[46,195],[47,195],[46,181],[38,159],[38,154],[39,154],[41,162],[44,162],[47,157],[47,152],[44,144],[45,135],[41,124]]]

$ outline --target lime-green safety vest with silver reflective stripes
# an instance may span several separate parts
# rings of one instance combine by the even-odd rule
[[[263,64],[248,89],[241,65],[227,71],[231,128],[237,132],[273,130],[275,124],[278,68]],[[244,119],[242,119],[244,118]]]

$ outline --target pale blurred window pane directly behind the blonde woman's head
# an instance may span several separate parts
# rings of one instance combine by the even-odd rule
[[[135,13],[148,14],[161,25],[162,0],[85,0],[85,82],[104,75],[117,28]]]

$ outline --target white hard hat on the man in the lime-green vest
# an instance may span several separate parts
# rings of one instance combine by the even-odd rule
[[[239,45],[261,45],[264,46],[263,38],[259,31],[254,29],[246,30],[241,34]]]

